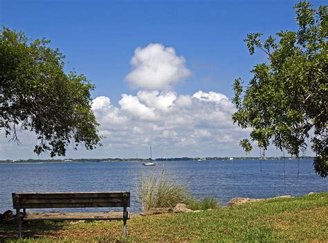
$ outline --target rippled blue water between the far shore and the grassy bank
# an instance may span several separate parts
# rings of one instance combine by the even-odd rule
[[[187,185],[195,195],[212,195],[224,204],[233,197],[267,198],[328,191],[328,179],[313,172],[310,160],[300,160],[299,173],[295,160],[286,160],[285,173],[283,161],[264,161],[262,170],[259,161],[246,160],[156,163],[157,166],[143,166],[142,162],[0,164],[0,212],[12,209],[11,193],[46,191],[131,191],[130,211],[140,211],[134,195],[138,177],[160,175],[163,171]]]

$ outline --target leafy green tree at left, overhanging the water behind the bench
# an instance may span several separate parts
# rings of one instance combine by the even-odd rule
[[[65,155],[66,147],[100,145],[91,110],[94,86],[84,75],[64,72],[64,55],[50,41],[0,31],[0,130],[19,143],[17,128],[37,135],[34,152]]]

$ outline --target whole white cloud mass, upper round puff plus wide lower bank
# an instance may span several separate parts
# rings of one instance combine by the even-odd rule
[[[136,95],[122,94],[117,107],[109,97],[97,97],[92,104],[100,133],[107,136],[103,143],[111,144],[111,150],[152,145],[161,148],[158,156],[172,157],[182,156],[182,151],[197,156],[216,153],[218,147],[238,148],[246,135],[233,125],[235,106],[226,95],[202,90],[178,95],[170,90],[191,73],[174,48],[136,48],[131,66],[127,81],[141,88]]]

